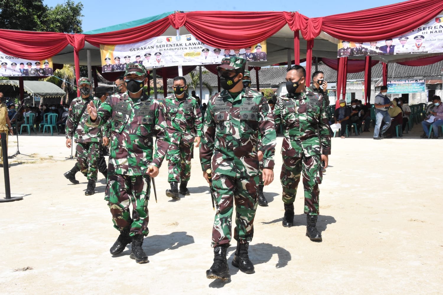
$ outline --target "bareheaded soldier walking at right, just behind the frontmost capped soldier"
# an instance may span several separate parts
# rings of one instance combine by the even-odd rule
[[[300,176],[303,177],[306,235],[321,241],[316,222],[319,214],[319,184],[322,182],[321,163],[327,167],[331,151],[328,117],[323,97],[305,88],[306,71],[300,65],[288,69],[288,95],[279,97],[275,107],[276,123],[283,125],[284,140],[280,174],[283,186],[283,226],[293,226],[294,201]]]

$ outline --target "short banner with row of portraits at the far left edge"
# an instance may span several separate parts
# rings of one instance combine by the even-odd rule
[[[10,56],[0,52],[0,76],[52,76],[54,74],[52,59],[34,61]]]

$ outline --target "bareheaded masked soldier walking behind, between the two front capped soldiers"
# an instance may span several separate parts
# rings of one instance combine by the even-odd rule
[[[171,189],[166,195],[172,199],[179,199],[182,195],[190,195],[187,184],[191,176],[191,159],[195,147],[200,146],[202,136],[202,114],[197,100],[186,93],[187,85],[184,77],[174,78],[174,94],[164,100],[168,121],[176,130],[174,136],[177,145],[171,144],[168,150],[169,175],[168,182]],[[177,184],[180,182],[180,190]]]

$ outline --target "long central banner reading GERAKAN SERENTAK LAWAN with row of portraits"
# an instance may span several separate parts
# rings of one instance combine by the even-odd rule
[[[141,42],[101,45],[102,71],[124,71],[128,63],[139,63],[147,69],[219,64],[224,57],[239,56],[249,62],[266,61],[266,40],[246,48],[216,48],[193,35],[160,36]]]

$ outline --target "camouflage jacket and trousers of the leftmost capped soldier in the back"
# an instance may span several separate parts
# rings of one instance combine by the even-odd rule
[[[88,112],[83,114],[82,109],[85,103],[93,100],[96,107],[100,107],[101,100],[97,97],[89,96],[85,99],[82,96],[72,100],[69,107],[68,118],[66,119],[66,138],[72,139],[77,143],[77,161],[80,172],[85,175],[88,180],[97,180],[97,160],[99,157],[99,144],[103,137],[103,131],[106,133],[106,128],[89,127],[85,125],[85,119],[89,117]],[[81,118],[80,118],[81,117]],[[80,118],[80,120],[79,120]],[[79,121],[77,129],[74,133],[74,124]]]

